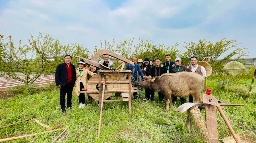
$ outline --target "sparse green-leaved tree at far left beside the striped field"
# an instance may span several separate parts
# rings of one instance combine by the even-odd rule
[[[4,66],[1,66],[2,72],[7,77],[25,84],[33,83],[44,71],[51,68],[49,59],[53,56],[51,51],[53,38],[48,34],[43,36],[42,33],[39,33],[36,39],[31,33],[30,36],[29,45],[23,45],[20,40],[18,47],[14,46],[12,36],[8,36],[9,41],[5,44],[1,41],[1,47],[3,47],[1,54],[5,55],[2,58],[5,63]],[[22,73],[25,77],[18,76],[17,72]]]

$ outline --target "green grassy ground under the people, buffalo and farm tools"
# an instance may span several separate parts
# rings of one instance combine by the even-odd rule
[[[230,86],[228,100],[226,89],[220,88],[216,81],[208,80],[208,88],[212,90],[212,95],[222,103],[245,104],[243,107],[222,107],[236,133],[249,130],[256,134],[255,88],[250,100],[246,101],[250,82]],[[128,114],[127,102],[104,103],[101,136],[98,139],[97,101],[93,101],[83,109],[78,109],[78,97],[73,96],[73,109],[62,114],[59,105],[59,89],[54,83],[44,86],[16,86],[0,93],[0,120],[11,118],[11,120],[1,121],[0,127],[32,117],[15,118],[16,116],[36,113],[35,118],[49,127],[58,123],[62,123],[61,127],[68,127],[67,132],[57,142],[201,142],[195,132],[182,129],[186,112],[183,114],[174,112],[180,104],[179,98],[168,112],[164,112],[165,102],[158,102],[157,93],[153,102],[133,101],[131,115]],[[142,97],[144,95],[143,92]],[[204,111],[202,114],[205,114]],[[230,136],[219,112],[217,117],[220,120],[218,121],[219,139]],[[30,120],[0,129],[0,139],[42,131],[47,129]],[[57,131],[10,142],[51,142],[60,133],[61,131]]]

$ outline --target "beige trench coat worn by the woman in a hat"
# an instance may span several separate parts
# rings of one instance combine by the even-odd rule
[[[80,82],[79,80],[81,79],[82,80],[82,83],[84,85],[84,88],[87,88],[87,74],[93,76],[94,73],[89,71],[87,68],[83,68],[82,70],[82,76],[80,77],[80,71],[79,71],[80,68],[77,68],[76,69],[76,77],[77,77],[77,80],[76,80],[76,83],[75,83],[75,91],[74,91],[74,94],[76,96],[79,96],[79,93],[78,91],[80,91]]]

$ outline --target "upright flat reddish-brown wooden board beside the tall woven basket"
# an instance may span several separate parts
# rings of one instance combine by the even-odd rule
[[[205,114],[207,115],[205,116],[206,128],[210,138],[218,138],[217,120],[214,119],[217,118],[216,106],[205,104]],[[219,141],[218,139],[211,139],[210,142],[218,143]]]

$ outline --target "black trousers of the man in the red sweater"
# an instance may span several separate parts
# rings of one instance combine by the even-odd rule
[[[61,88],[59,89],[61,109],[65,109],[66,94],[67,94],[67,107],[71,107],[72,91],[73,91],[72,82],[66,83],[65,86],[61,86]]]

